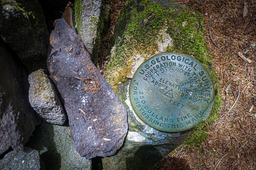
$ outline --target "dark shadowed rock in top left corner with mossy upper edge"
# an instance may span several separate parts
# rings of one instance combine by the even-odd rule
[[[48,31],[37,0],[1,1],[0,35],[28,70],[46,68]]]

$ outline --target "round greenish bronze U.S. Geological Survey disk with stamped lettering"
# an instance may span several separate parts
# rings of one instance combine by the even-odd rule
[[[207,69],[193,56],[161,53],[142,63],[129,86],[138,117],[151,128],[181,132],[210,115],[214,85]]]

